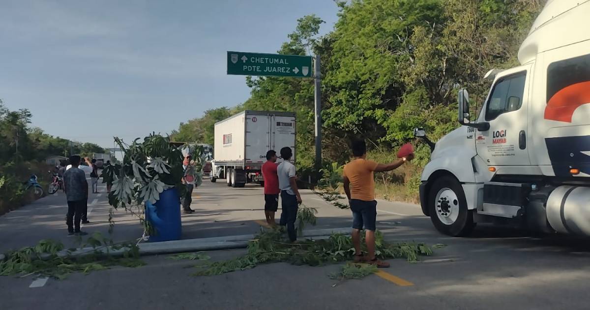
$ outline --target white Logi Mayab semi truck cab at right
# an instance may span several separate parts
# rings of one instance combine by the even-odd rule
[[[490,71],[475,118],[460,90],[463,126],[431,143],[422,211],[450,236],[483,222],[590,236],[590,1],[549,0],[518,57]]]

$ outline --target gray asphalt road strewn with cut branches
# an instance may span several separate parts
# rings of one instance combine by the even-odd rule
[[[262,220],[261,188],[206,183],[195,191],[195,214],[183,216],[183,237],[252,233]],[[104,195],[87,231],[107,229]],[[61,237],[64,197],[48,197],[0,217],[0,247]],[[304,203],[319,209],[319,228],[350,226],[348,210],[311,192]],[[391,260],[391,267],[362,280],[336,283],[339,265],[262,265],[221,276],[191,276],[195,262],[146,257],[139,268],[116,267],[65,280],[0,277],[2,309],[588,309],[590,242],[570,237],[537,239],[522,231],[479,226],[471,237],[442,236],[417,205],[379,201],[378,229],[389,241],[447,246],[419,263]],[[278,214],[277,214],[278,215]],[[60,218],[61,217],[61,218]],[[115,239],[142,229],[116,213]],[[22,227],[21,227],[22,226]],[[67,240],[65,237],[62,239]],[[8,244],[8,245],[7,245]],[[212,260],[244,250],[208,252]],[[37,287],[30,287],[37,286]]]

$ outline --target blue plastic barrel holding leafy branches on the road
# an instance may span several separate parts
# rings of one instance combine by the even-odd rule
[[[155,204],[146,202],[146,220],[154,229],[150,242],[181,239],[181,204],[176,188],[163,191]]]

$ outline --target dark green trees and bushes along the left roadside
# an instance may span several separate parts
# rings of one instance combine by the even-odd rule
[[[94,143],[71,142],[44,133],[31,126],[32,114],[27,109],[12,111],[0,100],[0,215],[31,203],[32,192],[25,191],[22,182],[32,174],[47,192],[53,167],[45,164],[51,155],[91,156],[105,150]]]

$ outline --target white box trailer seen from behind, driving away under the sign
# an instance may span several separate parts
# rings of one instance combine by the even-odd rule
[[[247,182],[263,184],[261,167],[266,152],[281,148],[293,151],[295,161],[295,113],[245,110],[215,123],[214,160],[211,182],[227,181],[228,186],[244,187]],[[278,159],[277,164],[282,159]]]

